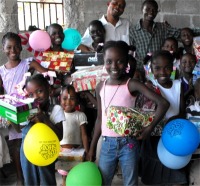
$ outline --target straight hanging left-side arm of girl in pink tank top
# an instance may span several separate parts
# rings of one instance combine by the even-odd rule
[[[88,158],[90,161],[95,161],[94,155],[96,151],[97,142],[101,135],[101,122],[102,122],[102,110],[101,110],[101,97],[100,97],[100,90],[103,85],[103,82],[100,82],[96,87],[96,98],[97,98],[97,119],[95,122],[94,127],[94,135],[91,141],[90,150],[88,153]]]

